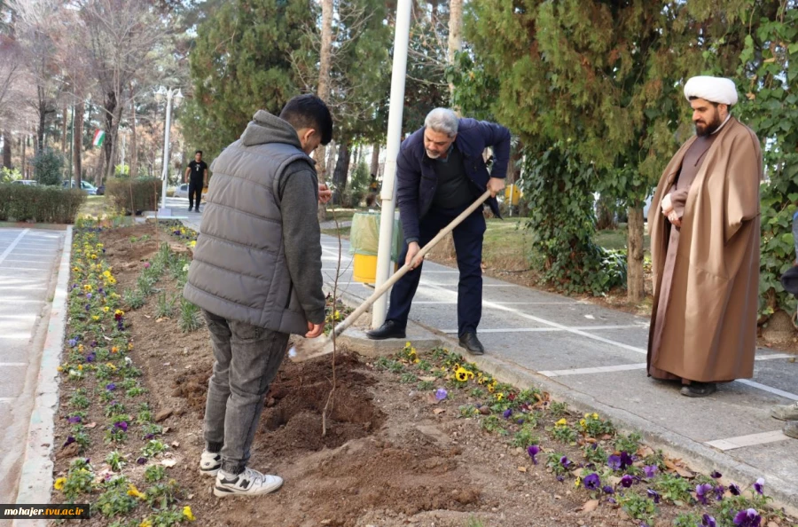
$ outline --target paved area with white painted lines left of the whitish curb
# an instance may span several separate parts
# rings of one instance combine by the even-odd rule
[[[13,503],[65,232],[0,229],[0,503]]]

